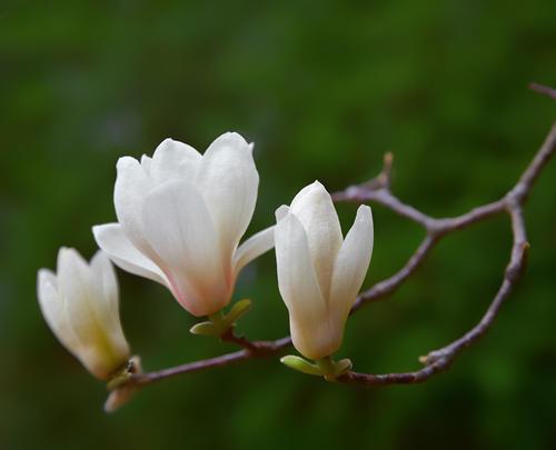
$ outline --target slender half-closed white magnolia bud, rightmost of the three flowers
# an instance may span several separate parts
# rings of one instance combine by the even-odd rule
[[[359,207],[344,240],[330,194],[316,181],[289,208],[280,207],[276,218],[278,284],[289,311],[294,346],[305,357],[319,360],[339,349],[367,273],[373,253],[371,211]]]

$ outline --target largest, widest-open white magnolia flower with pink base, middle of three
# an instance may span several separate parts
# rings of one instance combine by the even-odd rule
[[[257,201],[252,144],[225,133],[201,156],[167,139],[152,158],[123,157],[117,168],[119,223],[93,228],[99,247],[123,270],[168,287],[193,316],[226,307],[239,271],[274,246],[269,228],[238,248]]]

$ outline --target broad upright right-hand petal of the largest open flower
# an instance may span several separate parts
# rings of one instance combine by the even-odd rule
[[[197,174],[224,254],[231,254],[251,220],[259,174],[252,159],[252,144],[238,133],[217,138],[202,157]]]

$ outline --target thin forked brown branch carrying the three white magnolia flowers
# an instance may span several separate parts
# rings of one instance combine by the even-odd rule
[[[533,87],[532,89],[538,90]],[[509,214],[513,230],[510,259],[504,272],[500,288],[480,321],[471,330],[454,342],[429,352],[426,357],[421,357],[419,360],[425,364],[425,367],[420,370],[388,374],[370,374],[349,371],[345,376],[340,377],[338,381],[366,386],[407,384],[426,381],[434,374],[446,370],[464,349],[473,344],[489,330],[502,304],[509,297],[523,274],[527,250],[529,248],[526,239],[523,207],[528,194],[530,193],[530,190],[533,189],[535,180],[543,168],[548,163],[555,151],[556,124],[553,126],[544,144],[524,171],[518,182],[512,188],[512,190],[508,191],[506,196],[495,202],[474,208],[469,212],[454,218],[433,218],[416,208],[401,202],[390,191],[393,163],[393,157],[390,153],[385,156],[383,171],[375,179],[363,184],[351,186],[345,191],[332,194],[335,201],[351,201],[358,203],[370,201],[383,204],[399,216],[418,223],[426,231],[426,236],[420,246],[416,249],[415,253],[410,256],[406,264],[390,278],[383,280],[373,286],[369,290],[361,292],[354,304],[351,313],[359,310],[366,303],[380,300],[399,288],[404,281],[415,273],[435,244],[447,234],[502,213]],[[149,384],[151,382],[181,373],[197,372],[228,366],[251,358],[267,357],[280,352],[291,343],[290,337],[278,339],[276,341],[249,341],[246,338],[237,337],[234,333],[234,330],[230,330],[227,334],[225,334],[222,340],[236,343],[242,347],[242,350],[156,372],[135,374],[131,377],[130,383]]]

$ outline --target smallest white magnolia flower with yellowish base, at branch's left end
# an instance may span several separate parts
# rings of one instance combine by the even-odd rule
[[[118,281],[101,252],[90,264],[73,249],[58,252],[58,273],[41,269],[37,293],[58,340],[95,377],[107,380],[129,360],[118,311]]]

